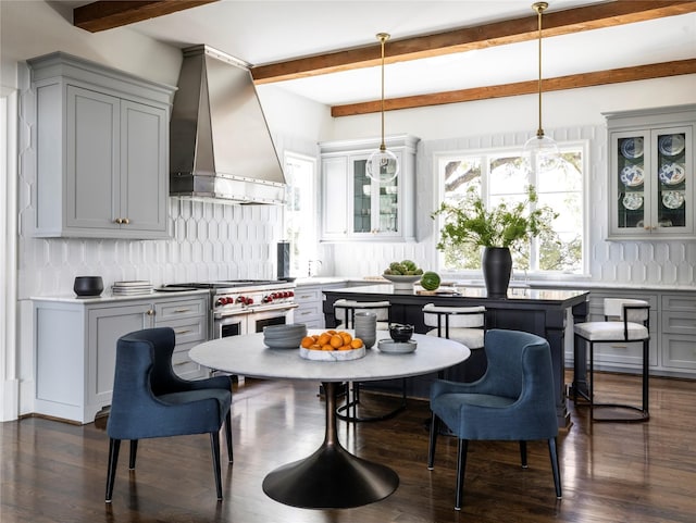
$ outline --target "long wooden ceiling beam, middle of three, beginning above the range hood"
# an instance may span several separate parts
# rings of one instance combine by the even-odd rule
[[[531,11],[531,10],[530,10]],[[545,12],[543,36],[558,36],[600,29],[696,11],[696,1],[616,0],[607,3]],[[455,52],[517,43],[538,37],[537,17],[494,22],[474,27],[389,40],[385,63],[432,58]],[[381,46],[344,49],[284,62],[251,67],[257,84],[306,78],[328,73],[376,66]]]

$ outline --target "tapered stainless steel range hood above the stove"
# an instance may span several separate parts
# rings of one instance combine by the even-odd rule
[[[285,202],[285,177],[248,67],[208,46],[184,49],[170,124],[170,195]]]

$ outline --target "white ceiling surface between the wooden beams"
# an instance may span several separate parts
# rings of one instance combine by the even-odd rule
[[[74,2],[75,5],[89,2]],[[606,3],[550,0],[546,13]],[[535,16],[530,0],[222,0],[110,30],[135,30],[185,48],[206,43],[251,65]],[[386,43],[387,48],[389,42]],[[696,58],[696,13],[543,40],[543,75],[557,77]],[[535,79],[537,42],[525,41],[386,66],[386,98]],[[276,83],[327,105],[380,98],[378,67]],[[696,87],[695,87],[696,89]]]

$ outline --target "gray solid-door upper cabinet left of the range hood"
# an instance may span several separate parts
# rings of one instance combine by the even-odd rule
[[[57,52],[28,61],[39,237],[165,238],[174,88]]]

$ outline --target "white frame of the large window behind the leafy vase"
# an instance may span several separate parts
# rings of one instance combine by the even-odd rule
[[[582,179],[581,179],[581,208],[583,212],[582,216],[582,261],[581,261],[581,270],[577,273],[569,273],[563,271],[525,271],[524,279],[529,279],[530,277],[534,277],[534,279],[576,279],[579,277],[588,277],[589,275],[589,241],[591,241],[591,228],[589,228],[589,202],[588,202],[588,190],[589,190],[589,169],[591,169],[591,159],[589,159],[589,140],[580,139],[580,140],[567,140],[562,142],[558,142],[559,150],[561,152],[568,150],[580,150],[582,155]],[[434,151],[432,157],[432,169],[434,173],[434,201],[433,201],[433,210],[439,208],[440,202],[444,201],[445,196],[445,186],[444,178],[440,176],[439,165],[443,161],[451,161],[457,160],[462,157],[475,157],[475,155],[485,155],[489,158],[490,155],[512,155],[519,154],[522,155],[521,146],[511,145],[509,147],[484,147],[484,148],[475,148],[475,149],[449,149],[449,150],[439,150]],[[482,165],[482,178],[481,178],[481,190],[484,197],[484,201],[488,203],[489,201],[489,183],[488,183],[488,164],[489,162],[485,162],[486,165]],[[535,182],[537,179],[538,173],[534,173],[531,177],[534,182],[531,182],[535,186],[537,185]],[[434,222],[433,229],[433,244],[436,245],[439,240],[439,231],[443,226],[445,217],[438,216]],[[436,271],[442,275],[450,278],[480,278],[481,277],[481,269],[478,270],[449,270],[445,269],[445,254],[436,249]],[[513,278],[514,267],[513,267]]]

